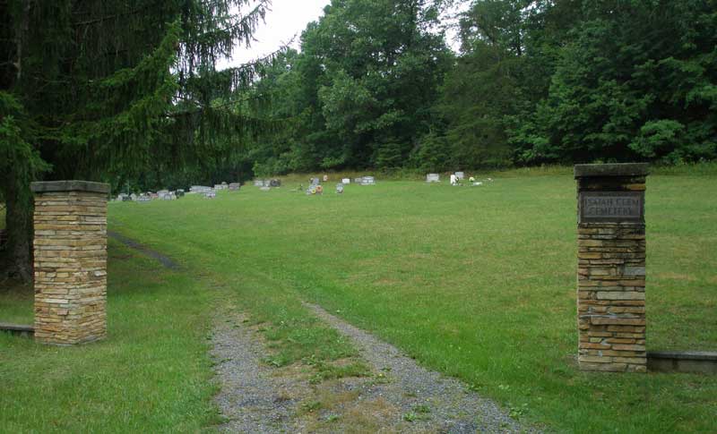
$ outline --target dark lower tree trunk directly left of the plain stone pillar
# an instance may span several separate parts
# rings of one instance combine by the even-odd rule
[[[5,222],[7,224],[7,251],[10,253],[11,273],[22,282],[32,281],[32,210],[33,199],[30,186],[18,189],[13,183],[6,185]]]

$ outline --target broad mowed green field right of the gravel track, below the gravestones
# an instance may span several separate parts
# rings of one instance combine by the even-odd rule
[[[332,333],[300,306],[304,300],[548,430],[717,430],[714,376],[577,370],[575,185],[567,172],[503,174],[471,188],[379,178],[375,186],[350,185],[343,195],[333,192],[333,183],[316,197],[292,191],[296,182],[272,191],[247,185],[222,191],[216,200],[110,204],[110,229],[180,262],[172,278],[183,279],[181,285],[165,279],[145,288],[147,279],[151,283],[165,272],[145,273],[144,262],[118,258],[112,252],[124,248],[112,243],[108,341],[84,350],[47,350],[0,336],[0,376],[10,366],[8,354],[20,362],[40,353],[49,363],[68,357],[65,351],[80,358],[81,352],[97,353],[104,360],[111,353],[100,350],[109,346],[129,362],[135,346],[153,358],[148,346],[181,339],[183,361],[204,370],[183,371],[177,384],[158,380],[146,387],[181,389],[198,381],[193,414],[202,416],[192,423],[206,425],[212,405],[201,384],[211,384],[202,355],[209,319],[238,305],[265,321],[285,352],[283,362],[293,362],[333,345]],[[648,349],[717,350],[717,176],[651,176],[646,218]],[[113,268],[112,261],[120,264]],[[135,261],[141,264],[137,273]],[[176,309],[174,297],[191,312]],[[11,303],[0,294],[0,320],[3,306]],[[172,326],[159,337],[128,328],[134,320],[148,320],[146,315],[156,327]],[[291,348],[297,342],[301,351]],[[164,362],[170,369],[183,365]],[[26,371],[11,370],[20,377]],[[42,378],[41,372],[26,375]],[[20,396],[39,390],[14,381],[11,390]],[[132,394],[117,399],[128,409],[143,405]],[[181,409],[172,404],[177,399],[166,396],[165,417]],[[29,414],[6,402],[2,410]],[[135,420],[130,410],[126,417]],[[185,423],[186,417],[180,419]],[[165,425],[170,426],[194,425]]]

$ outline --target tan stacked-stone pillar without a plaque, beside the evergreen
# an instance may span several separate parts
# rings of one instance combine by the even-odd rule
[[[32,183],[35,193],[35,339],[73,345],[107,334],[109,185]]]

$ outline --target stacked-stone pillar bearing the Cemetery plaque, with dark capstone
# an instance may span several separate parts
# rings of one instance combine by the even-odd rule
[[[577,165],[581,370],[645,372],[647,165]]]

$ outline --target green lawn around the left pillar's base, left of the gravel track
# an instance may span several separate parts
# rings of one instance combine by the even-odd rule
[[[0,432],[192,432],[218,420],[206,336],[212,289],[110,244],[106,341],[36,345],[0,333]],[[30,296],[0,320],[31,323]],[[14,316],[14,317],[13,317]]]

